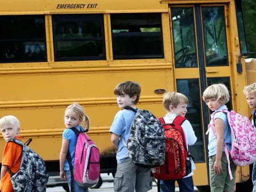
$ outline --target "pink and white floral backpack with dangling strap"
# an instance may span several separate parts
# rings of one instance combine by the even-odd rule
[[[231,150],[225,145],[225,154],[229,165],[229,155],[233,162],[238,166],[246,166],[256,162],[256,128],[251,124],[247,117],[244,117],[235,111],[222,109],[214,111],[211,115],[211,121],[208,129],[212,129],[216,136],[213,116],[215,113],[222,111],[227,114],[228,123],[231,130]],[[230,179],[232,174],[228,166]]]

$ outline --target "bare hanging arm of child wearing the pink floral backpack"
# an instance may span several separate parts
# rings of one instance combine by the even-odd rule
[[[217,134],[217,149],[216,149],[216,159],[213,165],[213,170],[215,173],[220,174],[222,171],[221,167],[221,156],[224,144],[224,122],[220,118],[214,120],[215,130]]]

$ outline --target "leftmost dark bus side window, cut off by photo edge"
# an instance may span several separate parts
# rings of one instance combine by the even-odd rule
[[[0,62],[46,61],[42,15],[0,17]]]

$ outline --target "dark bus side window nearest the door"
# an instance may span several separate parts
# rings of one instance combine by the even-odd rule
[[[161,13],[111,14],[114,59],[163,58]]]

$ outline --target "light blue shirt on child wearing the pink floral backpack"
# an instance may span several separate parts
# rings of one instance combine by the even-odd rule
[[[227,109],[227,106],[221,106],[217,110],[222,110],[222,109]],[[228,118],[227,114],[223,112],[217,112],[214,114],[213,119],[220,118],[224,122],[224,142],[226,143],[228,149],[231,149],[231,130],[228,124]],[[223,151],[224,151],[224,146],[223,146]],[[209,150],[209,157],[212,155],[216,155],[216,150],[217,150],[217,137],[215,137],[212,129],[209,130],[209,143],[208,143],[208,150]]]

